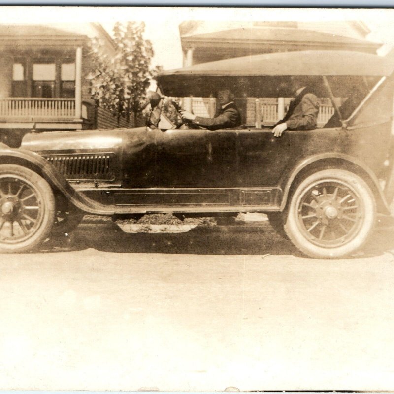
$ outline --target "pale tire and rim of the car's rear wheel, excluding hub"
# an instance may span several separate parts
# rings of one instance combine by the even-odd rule
[[[320,240],[320,238],[318,239],[317,236],[312,236],[312,231],[310,231],[310,229],[313,225],[307,229],[305,222],[303,221],[305,219],[302,218],[305,218],[308,215],[302,216],[301,213],[302,209],[304,209],[303,206],[308,205],[305,202],[302,203],[302,201],[306,201],[305,196],[311,196],[314,193],[314,188],[322,188],[324,185],[329,183],[334,185],[343,185],[341,186],[342,189],[347,190],[344,194],[350,193],[351,196],[354,196],[352,197],[353,200],[356,198],[356,206],[360,205],[356,213],[353,214],[356,215],[356,220],[352,218],[356,224],[350,225],[352,226],[351,229],[354,230],[350,230],[349,234],[343,235],[342,238],[338,238],[337,240],[334,236],[334,241],[331,241],[333,242],[332,245],[328,245],[329,241],[326,241],[327,243],[323,244],[324,240]],[[351,204],[353,204],[353,202]],[[345,209],[350,209],[350,207],[345,207]],[[346,213],[349,211],[343,210],[343,212]],[[344,215],[344,213],[342,213],[342,215]],[[319,221],[317,217],[313,220]],[[331,220],[331,218],[325,218],[325,220],[328,221]],[[343,219],[335,217],[332,220],[337,220],[339,223]],[[318,171],[308,176],[299,184],[291,197],[290,203],[288,204],[287,219],[284,225],[284,230],[293,244],[304,254],[313,258],[334,259],[350,255],[359,249],[371,234],[375,221],[376,201],[369,186],[358,175],[342,169],[333,168]],[[321,227],[325,226],[322,223],[319,224]],[[318,229],[319,228],[317,227],[316,230]],[[345,238],[347,236],[348,239]],[[337,245],[335,245],[335,242]],[[339,245],[339,243],[341,244]]]

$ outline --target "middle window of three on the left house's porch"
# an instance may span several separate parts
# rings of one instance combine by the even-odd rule
[[[55,97],[55,63],[33,64],[33,97],[52,98]]]

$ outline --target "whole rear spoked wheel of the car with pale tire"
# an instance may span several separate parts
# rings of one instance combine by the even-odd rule
[[[284,229],[306,255],[337,258],[361,247],[375,218],[376,202],[368,185],[354,173],[328,169],[296,188]]]

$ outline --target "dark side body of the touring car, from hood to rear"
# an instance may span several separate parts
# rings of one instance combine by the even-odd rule
[[[390,128],[387,120],[349,130],[285,131],[280,138],[271,129],[48,132],[27,135],[22,150],[54,164],[55,177],[91,201],[85,210],[92,213],[278,210],[303,163],[323,157],[345,155],[379,189]]]

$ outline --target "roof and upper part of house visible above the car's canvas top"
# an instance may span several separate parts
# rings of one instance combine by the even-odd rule
[[[382,45],[365,39],[368,27],[358,21],[217,22],[179,25],[183,65],[301,50],[353,50],[376,53]]]

